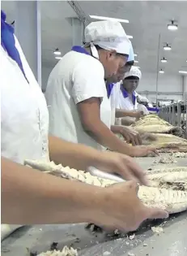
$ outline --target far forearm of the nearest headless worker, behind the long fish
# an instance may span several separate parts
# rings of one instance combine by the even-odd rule
[[[91,164],[100,161],[100,151],[49,136],[49,157],[51,161],[62,163],[65,167],[86,170]]]

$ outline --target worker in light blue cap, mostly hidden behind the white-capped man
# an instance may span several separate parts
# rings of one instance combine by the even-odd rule
[[[124,79],[125,72],[130,72],[130,68],[134,65],[134,50],[130,42],[130,54],[124,67],[119,68],[117,74],[109,77],[106,83],[108,98],[110,99],[112,119],[111,119],[111,131],[114,133],[121,134],[125,141],[132,145],[141,145],[142,140],[138,132],[127,128],[122,125],[115,125],[115,121],[121,117],[130,116],[139,118],[142,114],[141,111],[125,111],[119,109],[118,98],[120,94],[121,82]],[[101,104],[102,107],[102,104]],[[119,124],[119,123],[118,123]],[[120,123],[121,124],[121,123]]]

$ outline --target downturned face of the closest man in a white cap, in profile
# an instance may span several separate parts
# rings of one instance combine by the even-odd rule
[[[111,78],[117,75],[117,71],[125,66],[127,62],[127,57],[116,54],[115,51],[105,50],[100,56],[100,62],[104,66],[105,77]]]

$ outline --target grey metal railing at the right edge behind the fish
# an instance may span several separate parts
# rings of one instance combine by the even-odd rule
[[[187,101],[161,107],[159,117],[173,126],[183,128],[187,139]]]

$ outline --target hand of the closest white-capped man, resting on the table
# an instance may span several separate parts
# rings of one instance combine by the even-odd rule
[[[132,147],[132,152],[130,154],[133,157],[144,157],[147,155],[157,156],[159,155],[155,146],[151,145],[136,145]]]

